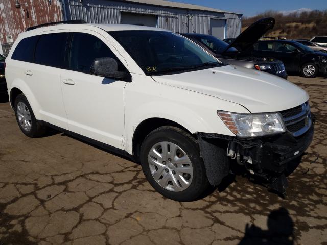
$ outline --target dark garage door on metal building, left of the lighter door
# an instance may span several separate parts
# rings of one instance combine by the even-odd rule
[[[157,16],[150,14],[134,14],[121,12],[122,24],[143,24],[147,27],[157,26]]]

